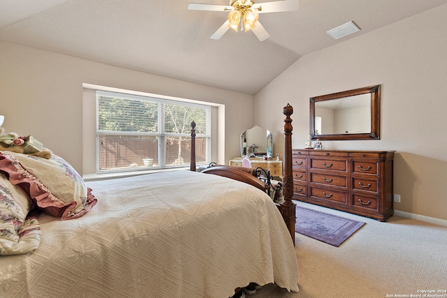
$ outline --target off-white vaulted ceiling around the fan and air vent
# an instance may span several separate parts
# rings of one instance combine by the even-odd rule
[[[265,2],[259,0],[256,3]],[[256,94],[300,57],[398,22],[447,0],[300,0],[295,12],[264,13],[270,33],[210,36],[226,13],[188,10],[189,0],[0,0],[0,40]],[[193,0],[228,5],[228,0]],[[360,32],[326,31],[353,21]]]

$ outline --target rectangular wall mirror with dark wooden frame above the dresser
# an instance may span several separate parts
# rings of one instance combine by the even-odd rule
[[[380,85],[310,98],[313,140],[378,140]]]

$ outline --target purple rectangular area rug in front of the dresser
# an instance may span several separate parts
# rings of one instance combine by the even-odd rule
[[[362,225],[365,225],[362,221],[296,207],[295,232],[332,246],[340,246]]]

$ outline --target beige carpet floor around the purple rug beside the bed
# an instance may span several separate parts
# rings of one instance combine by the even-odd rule
[[[422,290],[446,297],[447,226],[396,215],[383,223],[294,202],[366,225],[339,247],[296,233],[300,292],[268,284],[247,298],[417,297]]]

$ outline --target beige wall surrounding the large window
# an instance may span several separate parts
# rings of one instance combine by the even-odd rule
[[[224,158],[219,163],[239,154],[240,133],[253,126],[254,96],[247,94],[9,43],[0,43],[0,70],[0,114],[6,117],[3,128],[34,135],[82,174],[83,83],[225,105],[226,133],[219,135]]]

